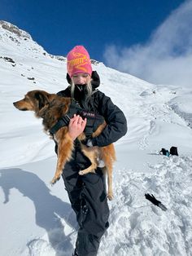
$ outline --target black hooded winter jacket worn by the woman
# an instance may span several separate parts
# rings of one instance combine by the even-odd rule
[[[94,72],[94,77],[95,77]],[[98,76],[98,74],[96,73]],[[98,77],[97,77],[98,79]],[[102,134],[92,139],[94,146],[103,147],[108,144],[116,142],[127,132],[127,121],[124,117],[124,113],[115,104],[112,103],[111,99],[104,95],[103,92],[97,90],[100,81],[93,80],[93,94],[89,101],[85,101],[85,91],[75,91],[75,99],[81,104],[81,107],[85,108],[86,111],[92,111],[98,113],[105,118],[107,126],[103,130]],[[82,95],[81,95],[82,94]],[[61,90],[58,93],[59,96],[71,97],[70,86],[67,89]]]

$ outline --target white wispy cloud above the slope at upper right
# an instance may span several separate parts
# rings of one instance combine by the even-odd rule
[[[107,65],[156,84],[192,86],[192,1],[172,11],[145,45],[107,46]]]

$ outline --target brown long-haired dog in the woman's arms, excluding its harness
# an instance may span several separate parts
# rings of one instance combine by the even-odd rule
[[[55,94],[49,94],[44,90],[31,90],[21,99],[14,104],[15,108],[19,110],[31,110],[35,113],[36,117],[42,118],[44,130],[49,131],[55,124],[68,113],[68,109],[72,103],[71,98],[60,97]],[[107,123],[104,121],[102,125],[92,134],[92,137],[97,137],[101,134]],[[67,161],[72,157],[73,141],[68,135],[68,126],[60,128],[55,135],[51,136],[58,143],[58,161],[55,176],[51,184],[55,184],[63,172],[63,167]],[[80,141],[85,139],[85,133],[78,136]],[[81,170],[79,174],[94,173],[98,166],[98,159],[102,159],[105,163],[104,170],[107,171],[108,192],[109,200],[112,199],[112,165],[116,161],[116,152],[114,145],[111,143],[106,147],[86,147],[81,143],[81,150],[86,157],[89,158],[91,166],[85,170]]]

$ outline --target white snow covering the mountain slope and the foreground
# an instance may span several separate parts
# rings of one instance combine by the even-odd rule
[[[0,24],[1,255],[69,256],[74,248],[78,227],[63,181],[50,186],[54,143],[41,120],[12,105],[28,90],[55,93],[68,86],[66,60],[59,59]],[[192,91],[152,85],[101,63],[93,67],[100,90],[129,125],[115,143],[115,198],[98,256],[192,255]],[[159,155],[172,146],[179,157]],[[146,201],[145,193],[168,210]]]

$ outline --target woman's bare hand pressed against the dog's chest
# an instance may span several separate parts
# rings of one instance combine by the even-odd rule
[[[79,115],[72,117],[68,125],[68,134],[75,140],[84,131],[87,119],[83,119]]]

